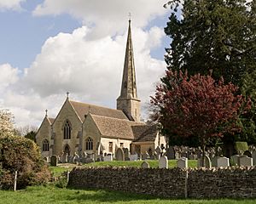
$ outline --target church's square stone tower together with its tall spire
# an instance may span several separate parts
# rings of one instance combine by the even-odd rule
[[[137,99],[136,74],[131,40],[131,20],[129,20],[123,81],[121,94],[117,99],[117,109],[124,111],[131,121],[139,122],[141,117],[140,102],[141,100]]]

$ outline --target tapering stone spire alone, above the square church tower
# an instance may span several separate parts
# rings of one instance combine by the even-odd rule
[[[123,81],[119,99],[137,99],[136,74],[131,40],[131,14],[129,19],[128,37],[125,50]]]

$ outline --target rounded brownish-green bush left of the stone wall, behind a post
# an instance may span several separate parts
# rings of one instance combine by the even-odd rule
[[[0,137],[0,189],[12,189],[18,171],[17,189],[27,185],[45,184],[50,179],[48,167],[31,139],[6,135]]]

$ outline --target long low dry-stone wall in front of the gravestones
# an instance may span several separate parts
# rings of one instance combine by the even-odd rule
[[[186,170],[179,168],[89,167],[70,173],[69,187],[185,197]],[[188,197],[256,197],[256,168],[189,169]]]

